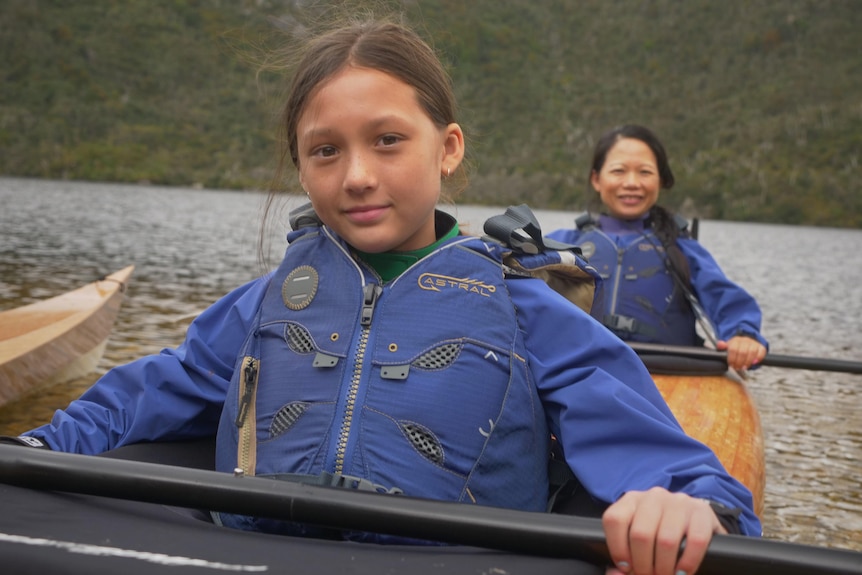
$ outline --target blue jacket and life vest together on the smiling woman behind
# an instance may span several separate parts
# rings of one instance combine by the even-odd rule
[[[701,346],[735,335],[748,335],[768,345],[760,335],[757,302],[731,282],[715,260],[688,232],[688,222],[675,218],[677,246],[690,268],[684,280],[666,248],[646,220],[622,221],[591,214],[577,218],[574,229],[549,237],[577,245],[598,270],[603,289],[596,298],[602,323],[626,341]],[[602,222],[621,233],[602,229]],[[701,332],[698,333],[698,326]]]

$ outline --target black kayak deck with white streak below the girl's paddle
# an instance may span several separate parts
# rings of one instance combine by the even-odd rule
[[[25,449],[25,448],[22,448]],[[133,446],[109,457],[211,468],[207,443]],[[590,563],[461,546],[375,545],[219,527],[202,512],[0,484],[6,573],[150,575],[593,575]]]

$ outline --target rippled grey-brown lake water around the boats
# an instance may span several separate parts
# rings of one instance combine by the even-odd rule
[[[0,178],[0,309],[136,266],[98,372],[0,408],[0,434],[49,421],[112,366],[176,346],[189,318],[257,277],[263,199]],[[474,232],[501,211],[446,209]],[[576,214],[536,215],[551,231]],[[284,221],[266,234],[272,265]],[[700,241],[760,302],[774,353],[862,361],[862,231],[702,221]],[[763,367],[747,385],[766,442],[765,535],[862,550],[862,376]]]

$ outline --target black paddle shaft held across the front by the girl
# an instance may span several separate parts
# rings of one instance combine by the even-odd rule
[[[0,481],[20,487],[85,493],[390,533],[459,545],[596,564],[608,562],[597,519],[513,511],[169,465],[0,445]],[[862,575],[862,553],[716,535],[704,575]]]

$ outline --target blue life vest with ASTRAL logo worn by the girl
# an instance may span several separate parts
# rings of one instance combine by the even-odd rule
[[[506,278],[595,272],[567,249],[459,236],[381,285],[331,230],[299,225],[237,359],[217,469],[544,510],[550,434]]]

